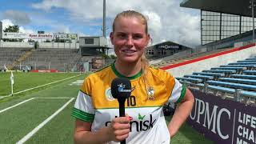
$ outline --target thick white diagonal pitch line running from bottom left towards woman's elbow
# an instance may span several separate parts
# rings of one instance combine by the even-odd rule
[[[34,128],[34,130],[30,131],[29,134],[26,134],[25,137],[23,137],[21,140],[19,140],[16,144],[22,144],[26,142],[29,138],[31,138],[38,130],[42,128],[42,126],[45,126],[47,122],[49,122],[52,118],[54,118],[58,113],[60,113],[70,102],[72,102],[74,98],[71,98],[69,102],[66,102],[65,105],[63,105],[60,109],[58,109],[54,114],[52,114],[49,118],[46,118],[46,120],[42,123],[40,123],[37,127]]]

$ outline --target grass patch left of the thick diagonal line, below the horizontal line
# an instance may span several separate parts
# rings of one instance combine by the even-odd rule
[[[67,99],[33,99],[14,107],[11,113],[8,110],[3,112],[1,115],[5,118],[0,118],[0,143],[18,142],[65,102]]]

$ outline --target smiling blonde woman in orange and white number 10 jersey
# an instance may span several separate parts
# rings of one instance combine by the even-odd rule
[[[145,16],[134,10],[118,14],[110,40],[116,61],[85,78],[72,116],[74,143],[170,143],[190,114],[194,97],[164,70],[149,66],[144,55],[150,42]],[[126,117],[118,117],[118,100],[110,92],[114,78],[129,78],[133,91],[126,99]],[[167,102],[178,103],[168,126]]]

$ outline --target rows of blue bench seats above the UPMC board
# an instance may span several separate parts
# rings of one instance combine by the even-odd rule
[[[246,60],[248,59],[253,60],[254,58],[246,58]],[[256,70],[254,69],[254,65],[245,65],[243,61],[238,61],[214,67],[211,70],[186,74],[177,79],[187,86],[206,93],[210,92],[222,98],[231,98],[255,105]]]

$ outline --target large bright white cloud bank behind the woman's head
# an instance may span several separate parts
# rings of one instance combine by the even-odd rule
[[[199,10],[182,8],[179,6],[180,2],[182,0],[106,1],[106,24],[110,28],[115,15],[123,10],[137,10],[149,18],[149,31],[154,43],[166,40],[186,46],[200,45]],[[102,25],[102,1],[43,0],[32,6],[46,11],[64,9],[70,15],[70,22],[80,25]]]

